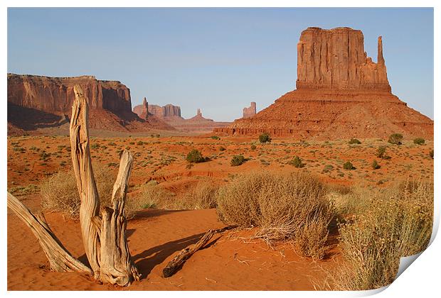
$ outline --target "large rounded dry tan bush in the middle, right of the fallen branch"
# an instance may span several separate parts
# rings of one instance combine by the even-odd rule
[[[219,189],[218,214],[228,224],[259,226],[256,237],[268,243],[289,239],[302,255],[323,258],[333,216],[325,193],[304,173],[253,172]]]

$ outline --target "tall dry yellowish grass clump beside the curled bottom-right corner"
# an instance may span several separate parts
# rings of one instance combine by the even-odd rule
[[[370,204],[339,232],[344,264],[324,288],[374,289],[395,279],[400,257],[423,251],[432,233],[433,184],[406,182],[373,192]]]

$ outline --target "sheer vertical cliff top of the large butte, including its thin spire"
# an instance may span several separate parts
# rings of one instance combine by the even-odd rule
[[[367,57],[359,30],[307,28],[297,43],[297,89],[390,92],[381,36],[377,60]]]

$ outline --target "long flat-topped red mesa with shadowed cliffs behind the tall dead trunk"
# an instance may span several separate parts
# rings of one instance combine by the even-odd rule
[[[130,90],[118,81],[93,76],[43,77],[8,74],[8,122],[32,131],[68,123],[80,84],[90,107],[90,128],[110,131],[173,129],[164,122],[145,121],[132,112]]]

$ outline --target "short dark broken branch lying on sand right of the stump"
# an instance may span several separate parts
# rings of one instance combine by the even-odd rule
[[[229,230],[230,228],[234,228],[233,226],[227,226],[225,228],[220,228],[218,230],[208,230],[202,238],[196,242],[195,244],[189,245],[187,248],[184,248],[181,250],[181,252],[176,255],[176,257],[171,260],[166,267],[162,270],[162,275],[164,277],[171,277],[171,275],[174,275],[174,273],[179,270],[181,265],[183,265],[188,258],[193,255],[193,253],[196,253],[197,250],[203,248],[208,241],[210,241],[211,237],[213,237],[216,233],[221,233],[223,231]]]

